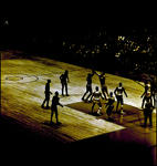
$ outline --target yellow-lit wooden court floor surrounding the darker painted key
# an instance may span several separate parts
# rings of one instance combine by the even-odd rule
[[[69,70],[70,96],[61,96],[60,75],[65,70]],[[145,141],[149,143],[144,141],[146,146],[156,146],[156,118],[154,118],[155,125],[153,128],[143,128],[138,125],[124,126],[123,123],[107,122],[66,106],[67,104],[81,102],[81,97],[85,92],[88,72],[91,70],[85,68],[28,55],[20,51],[8,50],[1,52],[1,115],[15,120],[20,126],[32,131],[35,135],[57,139],[63,144],[116,133],[126,128],[133,129],[134,127],[136,128],[134,129],[136,135],[140,133],[145,135],[145,138],[147,137]],[[61,122],[59,126],[55,125],[55,117],[53,117],[54,125],[50,125],[51,110],[41,107],[48,79],[52,81],[51,92],[54,94],[55,91],[59,91],[60,102],[64,105],[63,108],[59,107],[59,121]],[[119,82],[123,82],[128,94],[127,98],[124,97],[125,103],[140,107],[140,95],[144,87],[133,80],[106,73],[106,84],[109,92],[113,92]],[[94,75],[93,89],[96,85],[100,86],[100,81]]]

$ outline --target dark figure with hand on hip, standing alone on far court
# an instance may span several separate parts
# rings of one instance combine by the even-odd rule
[[[62,84],[62,95],[64,95],[64,87],[65,87],[66,96],[69,96],[67,83],[70,83],[70,80],[69,80],[69,71],[67,70],[65,70],[65,73],[60,76],[60,80],[61,80],[61,84]]]

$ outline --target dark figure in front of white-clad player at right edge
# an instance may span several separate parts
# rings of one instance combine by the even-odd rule
[[[149,117],[149,123],[150,126],[153,126],[153,118],[151,118],[151,114],[153,114],[153,103],[148,102],[145,104],[145,108],[144,108],[144,115],[145,115],[145,122],[144,122],[144,126],[147,126],[147,118]]]

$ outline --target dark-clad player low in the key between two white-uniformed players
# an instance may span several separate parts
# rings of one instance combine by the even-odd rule
[[[108,97],[108,103],[106,104],[105,107],[107,107],[107,115],[108,115],[108,121],[112,120],[111,118],[111,114],[112,114],[112,111],[114,108],[114,102],[115,102],[115,97],[113,96],[113,92],[109,93],[109,97]]]

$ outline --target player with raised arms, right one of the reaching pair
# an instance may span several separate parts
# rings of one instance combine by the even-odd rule
[[[107,100],[106,94],[107,94],[107,96],[108,96],[108,91],[107,91],[107,86],[106,86],[106,84],[105,84],[105,73],[102,72],[101,74],[97,74],[97,73],[95,72],[95,74],[100,77],[101,87],[102,87],[102,93],[103,93],[105,100]],[[106,93],[106,94],[105,94],[105,93]]]

